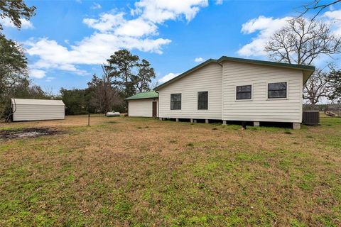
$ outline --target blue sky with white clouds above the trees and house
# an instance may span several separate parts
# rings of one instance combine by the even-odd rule
[[[21,31],[2,23],[5,35],[26,48],[33,82],[57,93],[60,87],[86,87],[121,48],[151,62],[159,82],[222,55],[266,60],[264,43],[307,2],[26,1],[37,11]],[[338,19],[337,7],[321,18]],[[341,35],[340,23],[332,29]]]

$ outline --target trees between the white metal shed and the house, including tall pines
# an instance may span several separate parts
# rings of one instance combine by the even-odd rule
[[[148,60],[128,50],[118,50],[102,66],[102,75],[92,76],[86,89],[60,89],[66,114],[126,111],[126,97],[151,90],[155,72]]]

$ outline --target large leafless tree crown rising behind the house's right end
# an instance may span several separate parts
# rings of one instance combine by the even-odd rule
[[[271,36],[265,50],[276,62],[311,65],[321,55],[340,53],[341,37],[332,34],[330,26],[322,21],[293,18]]]

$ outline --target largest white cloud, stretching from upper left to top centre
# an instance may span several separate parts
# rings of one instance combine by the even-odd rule
[[[67,47],[49,38],[30,39],[24,43],[28,55],[38,57],[32,64],[35,70],[58,69],[75,74],[87,74],[77,65],[102,64],[114,51],[140,50],[162,54],[163,46],[171,43],[167,38],[157,38],[158,26],[167,20],[184,17],[192,20],[207,0],[141,0],[126,18],[123,11],[102,13],[98,18],[84,18],[92,35],[71,43]]]

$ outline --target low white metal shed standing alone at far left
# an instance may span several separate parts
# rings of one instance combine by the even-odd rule
[[[13,121],[40,121],[65,119],[62,100],[11,99]]]

